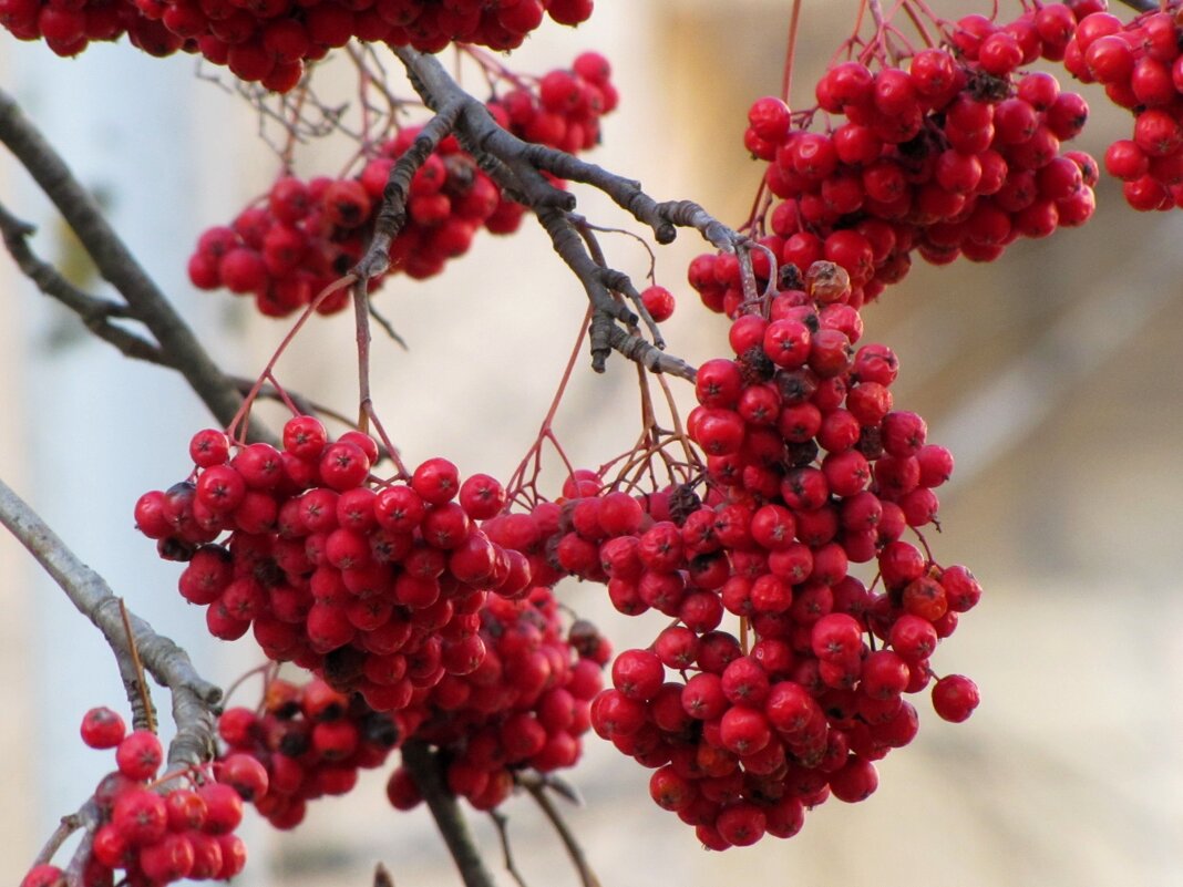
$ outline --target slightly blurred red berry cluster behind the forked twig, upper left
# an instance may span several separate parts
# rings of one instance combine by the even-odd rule
[[[570,70],[542,77],[536,91],[515,86],[490,101],[489,109],[515,135],[578,153],[599,142],[600,117],[616,106],[610,75],[603,56],[587,52]],[[189,259],[189,279],[202,290],[226,287],[252,296],[267,316],[283,317],[308,305],[361,259],[390,169],[419,131],[418,127],[401,130],[357,176],[309,182],[280,177],[265,201],[244,211],[232,225],[201,235]],[[478,229],[512,233],[524,212],[450,136],[412,179],[407,222],[390,247],[390,273],[433,277],[468,251]],[[318,310],[332,313],[347,302],[343,290]]]

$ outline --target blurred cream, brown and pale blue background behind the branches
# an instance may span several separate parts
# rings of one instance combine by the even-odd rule
[[[789,4],[599,7],[576,31],[544,27],[510,64],[543,73],[583,50],[605,52],[622,101],[592,158],[658,199],[691,198],[739,224],[761,174],[741,143],[746,108],[780,90]],[[795,106],[813,104],[812,86],[856,7],[804,4]],[[970,5],[938,8],[963,14]],[[227,294],[194,292],[185,276],[198,233],[230,221],[278,168],[256,137],[254,112],[194,77],[192,59],[150,59],[127,45],[63,60],[2,34],[0,86],[101,195],[227,370],[256,375],[286,325]],[[1131,122],[1094,88],[1082,91],[1094,116],[1078,147],[1100,157]],[[336,171],[332,149],[321,150],[302,153],[299,170]],[[0,196],[39,226],[44,257],[77,260],[6,154]],[[578,198],[593,221],[628,227],[597,195]],[[866,803],[832,801],[791,841],[725,854],[703,850],[649,801],[648,773],[589,734],[571,773],[586,804],[569,822],[605,887],[768,876],[797,887],[1183,883],[1183,219],[1133,213],[1108,180],[1098,202],[1085,228],[1019,242],[989,266],[918,261],[865,311],[865,341],[890,344],[901,360],[897,407],[924,415],[929,439],[957,458],[932,543],[943,563],[970,565],[985,596],[933,662],[972,676],[981,707],[956,726],[918,700],[918,739],[881,762]],[[634,240],[602,242],[612,264],[644,277],[648,259]],[[684,284],[702,250],[684,233],[657,265],[658,281],[681,300],[666,338],[692,363],[726,343],[725,322]],[[85,267],[78,273],[85,278]],[[176,595],[176,566],[156,559],[131,519],[142,492],[188,473],[188,439],[211,420],[172,374],[91,341],[7,258],[0,293],[0,477],[132,609],[228,684],[257,663],[250,645],[205,636],[200,615]],[[509,240],[478,237],[439,278],[388,281],[379,305],[411,350],[376,339],[375,402],[408,462],[445,455],[465,474],[509,474],[534,440],[584,304],[529,224]],[[349,318],[317,321],[280,362],[280,381],[348,413],[353,348]],[[556,426],[576,464],[631,447],[635,383],[619,358],[603,376],[581,358]],[[658,630],[613,614],[596,588],[568,584],[562,596],[621,648]],[[98,634],[7,538],[0,613],[0,881],[15,883],[58,817],[111,766],[109,753],[78,740],[83,713],[123,707],[123,694]],[[256,691],[246,692],[240,701]],[[157,705],[167,708],[163,697]],[[382,861],[399,887],[460,883],[427,816],[393,811],[383,782],[369,773],[348,799],[312,804],[295,834],[251,815],[241,882],[364,885]],[[526,883],[577,883],[529,798],[505,811]],[[491,823],[473,823],[511,883]]]

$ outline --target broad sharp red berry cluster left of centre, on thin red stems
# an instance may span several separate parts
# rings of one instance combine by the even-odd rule
[[[502,486],[484,474],[461,484],[445,459],[409,483],[376,481],[375,442],[360,432],[330,441],[311,416],[291,419],[283,436],[279,451],[199,432],[193,479],[136,503],[161,556],[188,562],[180,591],[207,608],[209,632],[253,630],[270,659],[360,692],[375,711],[474,671],[487,594],[531,584],[528,557],[473,523],[502,510]]]

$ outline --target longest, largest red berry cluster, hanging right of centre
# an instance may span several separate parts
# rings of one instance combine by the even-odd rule
[[[893,408],[892,351],[854,350],[861,321],[840,270],[806,277],[808,291],[733,322],[733,358],[698,370],[687,429],[706,454],[705,501],[680,487],[646,512],[593,486],[552,543],[557,564],[606,581],[622,613],[675,620],[616,659],[592,724],[655,770],[654,799],[713,848],[790,836],[829,795],[867,797],[873,762],[916,734],[904,694],[929,686],[929,658],[981,595],[918,532],[936,523],[952,457]],[[851,575],[860,563],[880,591]],[[742,639],[720,630],[726,614]],[[977,704],[959,675],[932,693],[948,720]]]

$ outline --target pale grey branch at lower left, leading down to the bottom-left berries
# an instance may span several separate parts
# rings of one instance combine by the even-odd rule
[[[58,583],[75,608],[106,639],[119,662],[119,673],[134,673],[131,648],[124,629],[119,598],[92,569],[66,546],[37,512],[0,480],[0,524],[20,540]],[[208,760],[214,750],[214,711],[221,689],[205,680],[189,655],[175,642],[156,634],[148,622],[128,614],[131,634],[144,667],[173,695],[176,738],[168,747],[170,766],[192,766]],[[129,698],[137,688],[128,687]]]

